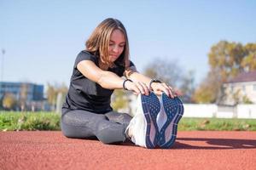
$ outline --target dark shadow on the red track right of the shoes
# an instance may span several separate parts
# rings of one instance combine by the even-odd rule
[[[202,141],[210,145],[183,144],[182,141]],[[177,138],[172,149],[191,150],[234,150],[234,149],[255,149],[256,140],[253,139],[204,139],[204,138]]]

